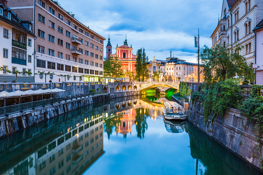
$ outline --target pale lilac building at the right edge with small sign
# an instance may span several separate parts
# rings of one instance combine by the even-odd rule
[[[263,85],[263,20],[253,30],[256,33],[256,84]]]

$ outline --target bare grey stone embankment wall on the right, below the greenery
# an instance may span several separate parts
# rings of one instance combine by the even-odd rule
[[[261,168],[262,144],[258,146],[256,133],[246,116],[242,116],[240,110],[230,108],[224,116],[218,116],[211,122],[204,123],[202,103],[194,101],[190,103],[188,120],[214,138],[220,144],[235,152],[241,158]],[[257,151],[257,149],[259,150]]]

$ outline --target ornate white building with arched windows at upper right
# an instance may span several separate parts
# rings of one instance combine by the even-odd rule
[[[221,17],[211,35],[212,47],[221,44],[225,47],[244,46],[239,54],[249,65],[255,63],[255,28],[263,17],[262,0],[223,0]]]

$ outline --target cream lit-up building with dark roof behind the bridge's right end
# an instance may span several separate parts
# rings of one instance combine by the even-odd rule
[[[186,62],[178,58],[170,58],[167,63],[160,66],[163,72],[162,81],[187,81],[198,82],[198,64]],[[200,82],[204,81],[202,73],[203,67],[200,66]]]

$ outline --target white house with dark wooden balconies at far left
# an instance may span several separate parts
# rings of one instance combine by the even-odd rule
[[[12,82],[15,73],[11,71],[29,71],[31,75],[17,75],[17,82],[34,82],[34,34],[31,32],[31,21],[23,21],[14,13],[6,0],[0,0],[0,82]]]

